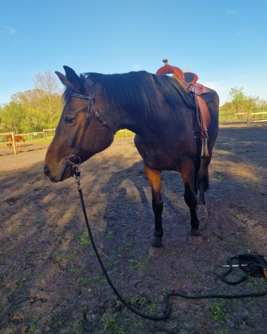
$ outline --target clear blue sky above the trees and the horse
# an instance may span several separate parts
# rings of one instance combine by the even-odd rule
[[[225,102],[267,100],[267,1],[1,0],[0,104],[48,69],[155,73],[190,68]]]

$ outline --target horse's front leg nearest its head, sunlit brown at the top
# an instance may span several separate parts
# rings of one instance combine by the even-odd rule
[[[163,251],[163,245],[161,243],[161,238],[163,236],[162,229],[162,211],[163,211],[163,201],[161,198],[161,172],[152,170],[144,163],[145,174],[151,185],[152,192],[152,209],[155,216],[155,231],[154,238],[151,243],[151,248],[149,250],[150,255],[160,255]]]

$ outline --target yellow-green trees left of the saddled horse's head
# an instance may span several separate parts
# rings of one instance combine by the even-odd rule
[[[34,76],[33,85],[0,106],[0,132],[37,132],[58,124],[63,107],[58,80],[45,71]]]

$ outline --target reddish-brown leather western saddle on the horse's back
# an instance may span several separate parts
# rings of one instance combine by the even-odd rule
[[[164,63],[164,66],[157,70],[156,75],[162,76],[166,74],[172,74],[173,78],[178,81],[183,89],[195,100],[197,119],[200,124],[202,140],[201,157],[207,158],[207,128],[211,123],[211,117],[209,115],[207,104],[200,95],[207,93],[209,89],[207,87],[204,87],[200,83],[197,83],[198,76],[195,73],[183,72],[179,67],[169,65],[167,59],[163,59],[162,61]]]

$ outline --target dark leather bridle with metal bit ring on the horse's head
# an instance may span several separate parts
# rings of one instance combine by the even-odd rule
[[[87,78],[83,75],[80,75],[80,77],[87,84],[88,95],[72,93],[70,96],[73,96],[73,97],[78,98],[78,99],[88,100],[88,107],[87,107],[87,114],[86,114],[86,117],[85,117],[83,132],[82,132],[79,144],[77,146],[77,149],[76,149],[75,153],[68,157],[68,164],[71,164],[71,176],[73,176],[74,174],[77,175],[77,173],[80,172],[79,169],[78,169],[78,166],[82,162],[82,159],[80,158],[79,154],[80,154],[81,149],[82,149],[86,129],[87,129],[87,127],[90,123],[90,120],[91,120],[91,108],[93,109],[94,114],[96,115],[96,118],[101,122],[101,124],[104,125],[106,128],[108,128],[113,134],[116,134],[116,132],[113,131],[113,129],[110,126],[108,126],[108,124],[104,121],[100,112],[98,112],[98,110],[94,106],[94,100],[95,100],[95,97],[96,97],[96,90],[94,89],[93,82],[89,78]]]

